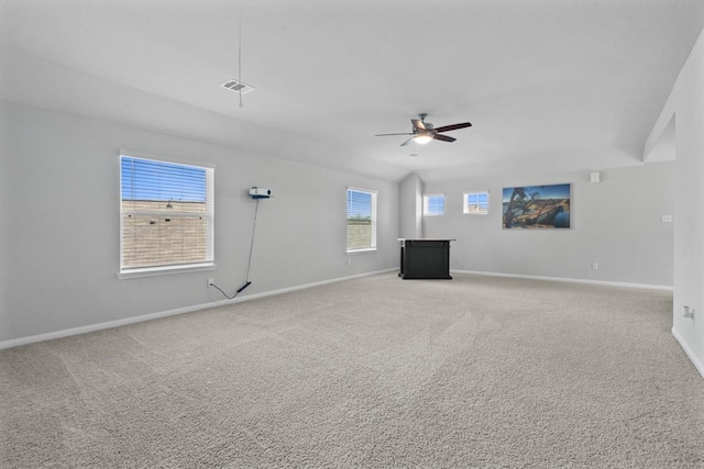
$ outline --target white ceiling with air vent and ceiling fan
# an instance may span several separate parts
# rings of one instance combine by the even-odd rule
[[[0,98],[392,180],[596,170],[642,161],[703,27],[703,0],[0,0]],[[374,136],[419,112],[473,126]]]

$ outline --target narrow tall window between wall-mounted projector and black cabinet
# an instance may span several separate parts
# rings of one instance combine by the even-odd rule
[[[376,250],[376,192],[348,189],[348,253]]]

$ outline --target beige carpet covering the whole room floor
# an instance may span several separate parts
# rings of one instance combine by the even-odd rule
[[[671,304],[386,273],[16,347],[0,467],[702,468]]]

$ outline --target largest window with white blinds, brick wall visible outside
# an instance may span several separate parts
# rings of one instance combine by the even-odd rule
[[[120,278],[215,267],[213,171],[120,155]]]

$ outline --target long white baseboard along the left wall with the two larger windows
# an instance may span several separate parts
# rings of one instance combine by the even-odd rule
[[[12,339],[9,339],[9,340],[0,342],[0,350],[2,350],[4,348],[19,347],[21,345],[33,344],[33,343],[36,343],[36,342],[52,340],[54,338],[62,338],[62,337],[68,337],[68,336],[72,336],[72,335],[86,334],[86,333],[89,333],[89,332],[102,331],[102,330],[107,330],[107,328],[124,326],[124,325],[128,325],[128,324],[141,323],[141,322],[144,322],[144,321],[153,321],[153,320],[157,320],[157,319],[161,319],[161,317],[174,316],[176,314],[193,313],[195,311],[208,310],[208,309],[211,309],[211,308],[221,306],[223,304],[239,303],[239,302],[242,302],[242,301],[255,300],[257,298],[273,297],[273,295],[276,295],[276,294],[288,293],[288,292],[296,291],[296,290],[305,290],[305,289],[308,289],[308,288],[321,287],[323,284],[337,283],[337,282],[345,281],[345,280],[352,280],[352,279],[355,279],[355,278],[369,277],[369,276],[374,276],[374,275],[377,275],[377,273],[391,272],[391,271],[395,271],[395,270],[398,270],[398,268],[376,270],[376,271],[373,271],[373,272],[358,273],[358,275],[348,276],[348,277],[339,277],[339,278],[329,279],[329,280],[322,280],[322,281],[312,282],[312,283],[305,283],[305,284],[298,284],[298,286],[295,286],[295,287],[283,288],[283,289],[279,289],[279,290],[272,290],[272,291],[265,291],[265,292],[262,292],[262,293],[254,293],[254,294],[249,294],[249,295],[244,295],[244,297],[238,297],[238,298],[235,298],[233,300],[222,300],[222,301],[215,301],[215,302],[202,303],[202,304],[195,304],[195,305],[191,305],[191,306],[177,308],[175,310],[162,311],[162,312],[158,312],[158,313],[143,314],[143,315],[134,316],[134,317],[125,317],[123,320],[108,321],[108,322],[105,322],[105,323],[89,324],[87,326],[73,327],[73,328],[63,330],[63,331],[50,332],[50,333],[46,333],[46,334],[38,334],[38,335],[32,335],[32,336],[28,336],[28,337],[12,338]]]

